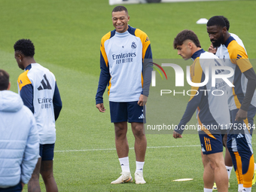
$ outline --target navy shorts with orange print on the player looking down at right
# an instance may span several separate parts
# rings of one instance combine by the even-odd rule
[[[213,134],[211,136],[200,131],[199,138],[203,154],[216,154],[223,151],[221,134]]]

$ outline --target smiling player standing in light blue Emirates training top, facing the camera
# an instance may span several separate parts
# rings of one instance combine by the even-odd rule
[[[142,170],[145,162],[147,140],[145,136],[145,111],[152,68],[145,67],[152,59],[148,35],[128,25],[130,16],[123,6],[112,11],[114,30],[103,36],[100,45],[100,76],[96,93],[96,108],[105,112],[103,93],[108,84],[111,122],[114,123],[115,145],[122,175],[111,184],[132,182],[126,138],[127,121],[135,137],[136,184],[145,184]]]

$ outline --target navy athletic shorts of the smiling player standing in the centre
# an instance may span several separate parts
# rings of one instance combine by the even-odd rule
[[[138,102],[109,102],[111,123],[145,123],[145,111]]]

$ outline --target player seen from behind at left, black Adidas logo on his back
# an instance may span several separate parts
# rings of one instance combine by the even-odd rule
[[[53,151],[56,141],[55,121],[62,108],[59,89],[53,73],[35,62],[32,41],[20,39],[14,44],[14,50],[18,66],[25,71],[18,78],[19,93],[24,105],[35,116],[40,139],[40,157],[29,180],[28,191],[41,191],[41,174],[46,190],[56,192],[58,187],[53,177]]]

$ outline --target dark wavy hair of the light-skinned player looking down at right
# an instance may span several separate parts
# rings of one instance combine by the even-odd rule
[[[199,39],[197,38],[197,35],[193,31],[187,29],[179,32],[178,35],[174,38],[173,47],[176,49],[178,45],[182,45],[183,42],[187,39],[193,41],[197,47],[201,48],[201,44]]]

